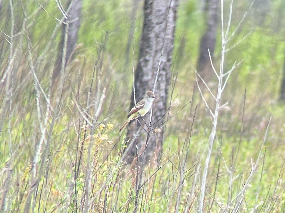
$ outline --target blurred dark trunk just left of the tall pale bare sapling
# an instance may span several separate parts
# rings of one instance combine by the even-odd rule
[[[216,45],[218,4],[218,0],[207,0],[205,4],[205,12],[207,14],[207,30],[200,42],[200,55],[197,66],[197,70],[204,80],[209,79],[209,71],[211,69],[208,49],[211,57],[213,57]]]

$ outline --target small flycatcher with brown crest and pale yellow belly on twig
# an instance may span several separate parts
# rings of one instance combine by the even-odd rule
[[[127,116],[127,120],[120,128],[119,132],[122,131],[125,126],[130,123],[130,121],[137,119],[140,116],[144,116],[147,114],[149,109],[151,108],[153,100],[157,98],[155,97],[154,93],[150,90],[147,90],[147,92],[144,95],[144,99],[142,99],[140,102],[138,102],[129,112]]]

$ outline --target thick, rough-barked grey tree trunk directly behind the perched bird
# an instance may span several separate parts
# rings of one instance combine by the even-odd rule
[[[170,8],[169,8],[170,4]],[[145,0],[144,5],[144,25],[140,42],[140,53],[135,74],[135,91],[136,102],[144,97],[147,90],[153,90],[155,76],[158,69],[158,64],[161,59],[158,80],[155,88],[155,95],[158,97],[153,103],[152,124],[162,123],[167,107],[168,90],[170,84],[170,69],[172,63],[173,42],[176,23],[178,0]],[[163,49],[164,45],[164,49]],[[161,57],[163,49],[163,55]],[[132,103],[133,107],[133,94]],[[149,115],[144,116],[147,125],[149,124]],[[127,135],[130,140],[133,133],[138,129],[138,126],[133,122]],[[143,124],[143,122],[141,121]],[[153,126],[154,127],[154,126]],[[140,137],[137,139],[138,156],[140,164],[147,162],[155,153],[159,158],[163,141],[162,125],[152,131],[149,135],[146,147],[147,132],[143,129]],[[145,129],[147,130],[146,126]],[[145,148],[146,147],[146,148]],[[158,155],[157,155],[158,154]],[[131,163],[136,156],[136,146],[132,146],[130,154],[126,161]]]

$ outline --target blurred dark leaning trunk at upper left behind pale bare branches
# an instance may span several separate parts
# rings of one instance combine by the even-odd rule
[[[81,15],[81,8],[82,8],[82,0],[73,0],[69,1],[68,5],[71,5],[69,12],[68,12],[68,39],[67,39],[67,45],[66,45],[66,57],[65,57],[65,65],[67,65],[69,58],[71,57],[73,50],[75,48],[75,44],[77,43],[78,39],[78,31],[80,28],[80,15]],[[76,20],[77,19],[77,20]],[[65,31],[66,31],[66,25],[63,24],[62,29],[62,36],[60,39],[60,47],[59,47],[59,53],[57,56],[57,62],[53,71],[53,78],[55,79],[61,69],[61,63],[62,63],[62,57],[63,57],[63,48],[64,48],[64,37],[65,37]]]

